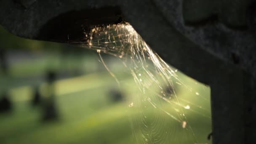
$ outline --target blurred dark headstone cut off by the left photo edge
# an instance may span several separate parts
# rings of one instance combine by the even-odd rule
[[[9,99],[8,93],[5,92],[0,97],[0,112],[10,112],[12,109],[11,100]]]

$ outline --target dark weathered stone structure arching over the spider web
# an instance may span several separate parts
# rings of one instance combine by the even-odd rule
[[[166,62],[211,86],[214,144],[256,143],[256,116],[252,115],[256,112],[255,3],[20,1],[0,1],[0,24],[16,35],[32,39],[68,42],[80,37],[90,25],[116,23],[122,16]]]

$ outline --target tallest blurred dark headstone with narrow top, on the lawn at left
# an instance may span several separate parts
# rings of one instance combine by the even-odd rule
[[[57,120],[58,113],[55,104],[54,81],[56,80],[56,72],[48,71],[46,73],[47,80],[47,96],[43,104],[43,121]]]

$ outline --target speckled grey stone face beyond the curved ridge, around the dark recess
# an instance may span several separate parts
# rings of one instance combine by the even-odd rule
[[[155,5],[157,5],[159,10],[163,13],[163,16],[165,16],[166,20],[176,29],[178,29],[179,32],[184,34],[197,45],[200,45],[200,47],[203,48],[205,51],[212,53],[220,59],[229,61],[230,63],[242,67],[248,73],[253,75],[254,78],[256,77],[256,56],[254,56],[256,53],[256,32],[251,30],[254,29],[255,23],[250,23],[249,19],[247,19],[248,28],[244,30],[227,27],[222,24],[221,21],[215,21],[214,23],[210,22],[203,25],[199,24],[197,26],[190,26],[184,23],[184,13],[182,13],[183,5],[181,3],[181,0],[162,0],[161,3],[159,3],[157,0],[155,1]],[[200,0],[195,1],[200,2]],[[232,3],[230,4],[232,5]],[[253,5],[255,4],[252,3],[250,6]],[[192,6],[195,6],[195,4]],[[205,7],[207,7],[207,5],[205,5]],[[193,8],[200,9],[200,7]],[[204,9],[197,11],[200,11],[198,13],[204,13]],[[246,11],[248,12],[246,17],[252,17],[251,19],[253,19],[253,17],[255,16],[255,10],[245,10],[245,12]],[[251,27],[251,29],[249,29],[249,27]]]

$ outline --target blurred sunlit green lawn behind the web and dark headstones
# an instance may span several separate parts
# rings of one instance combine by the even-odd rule
[[[14,106],[11,113],[0,114],[1,144],[136,143],[134,135],[141,137],[141,127],[132,126],[131,119],[141,117],[139,112],[141,110],[131,110],[134,108],[128,107],[129,97],[135,95],[137,91],[133,78],[125,73],[120,82],[126,99],[120,102],[110,100],[109,90],[117,87],[117,84],[106,70],[59,79],[55,83],[59,120],[43,123],[42,109],[32,107],[30,101],[32,85],[44,83],[42,78],[44,61],[45,59],[39,59],[16,63],[11,67],[11,76],[1,77],[2,88],[10,89]],[[75,63],[76,61],[73,65]],[[184,82],[193,88],[193,92],[179,89],[179,98],[183,99],[181,102],[191,107],[188,111],[184,111],[191,128],[182,128],[180,122],[173,120],[167,114],[161,114],[159,117],[161,120],[158,121],[159,133],[167,136],[168,131],[168,139],[172,144],[189,144],[191,139],[196,139],[199,144],[211,144],[211,141],[207,140],[211,132],[210,89],[195,84],[190,78],[184,78]],[[5,85],[6,83],[8,85]],[[195,91],[200,93],[200,96],[195,96]],[[206,110],[202,111],[202,107]],[[175,113],[168,103],[163,102],[161,108]],[[152,110],[152,108],[143,109],[147,116],[154,118],[155,113]],[[205,114],[205,111],[208,113]]]

